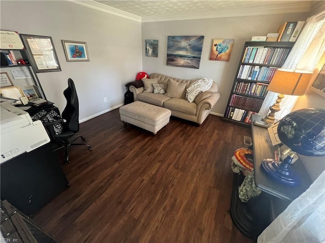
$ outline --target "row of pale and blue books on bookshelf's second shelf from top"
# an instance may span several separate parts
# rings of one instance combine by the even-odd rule
[[[270,83],[277,67],[240,65],[237,78]]]

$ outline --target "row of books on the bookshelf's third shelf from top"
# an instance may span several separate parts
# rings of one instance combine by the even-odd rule
[[[237,82],[233,93],[265,97],[268,93],[268,86],[269,85],[262,83]]]

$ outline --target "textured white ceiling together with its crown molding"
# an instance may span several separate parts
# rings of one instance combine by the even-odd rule
[[[74,1],[74,3],[140,22],[303,13],[310,12],[316,8],[325,9],[325,1],[313,0],[81,0]]]

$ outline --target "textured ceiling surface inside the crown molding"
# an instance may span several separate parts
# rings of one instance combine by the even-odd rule
[[[139,17],[192,14],[254,8],[275,8],[313,1],[95,1]]]

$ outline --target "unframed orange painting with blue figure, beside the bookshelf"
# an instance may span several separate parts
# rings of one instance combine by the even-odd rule
[[[211,47],[210,60],[229,62],[234,41],[234,39],[214,39]]]

